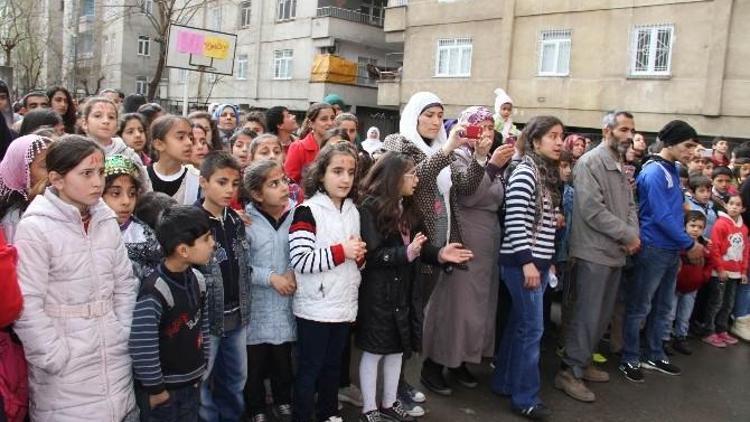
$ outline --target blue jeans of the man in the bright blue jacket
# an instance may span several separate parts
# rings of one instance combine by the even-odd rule
[[[625,299],[622,350],[622,362],[632,364],[640,361],[640,329],[646,317],[645,358],[654,361],[666,359],[662,339],[669,332],[680,253],[645,246],[635,264],[635,279]]]

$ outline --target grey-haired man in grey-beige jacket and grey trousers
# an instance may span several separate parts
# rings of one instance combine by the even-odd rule
[[[638,215],[625,170],[635,123],[627,111],[607,113],[602,142],[584,154],[573,170],[575,201],[570,257],[575,259],[575,312],[565,333],[565,354],[555,387],[576,400],[592,402],[583,383],[607,382],[609,374],[592,365],[591,355],[612,317],[625,259],[641,245]]]

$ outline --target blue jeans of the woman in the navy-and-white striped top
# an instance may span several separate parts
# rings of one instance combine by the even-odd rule
[[[495,358],[492,390],[511,396],[511,405],[525,409],[539,400],[539,343],[544,333],[544,289],[549,271],[541,272],[542,283],[535,290],[523,287],[523,269],[501,267],[502,279],[513,304]]]

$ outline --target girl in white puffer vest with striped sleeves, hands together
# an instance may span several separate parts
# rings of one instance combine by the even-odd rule
[[[350,199],[356,165],[357,155],[347,144],[323,149],[305,176],[304,190],[312,196],[297,207],[289,230],[290,261],[297,278],[294,419],[299,422],[340,420],[341,357],[357,316],[357,261],[366,252],[359,239],[359,212]]]

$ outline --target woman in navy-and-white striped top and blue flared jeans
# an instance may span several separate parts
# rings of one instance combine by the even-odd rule
[[[550,413],[539,400],[539,343],[544,331],[542,297],[550,272],[554,272],[562,134],[563,125],[556,117],[532,118],[518,141],[524,143],[526,155],[505,191],[500,264],[513,304],[496,359],[492,389],[511,396],[513,410],[529,419]]]

